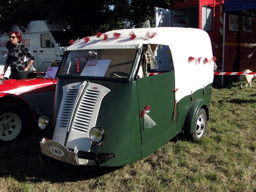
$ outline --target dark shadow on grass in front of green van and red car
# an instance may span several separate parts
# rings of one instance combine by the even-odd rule
[[[88,169],[47,157],[40,152],[36,136],[0,145],[0,177],[10,176],[18,181],[37,183],[89,180],[120,168]]]

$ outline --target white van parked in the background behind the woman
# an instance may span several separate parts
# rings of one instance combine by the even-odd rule
[[[24,33],[18,26],[13,26],[11,31],[19,31],[22,34],[22,44],[26,45],[35,56],[36,70],[39,70],[43,62],[61,60],[68,41],[74,38],[72,31],[64,30],[64,24],[49,24],[47,20],[31,21]],[[9,34],[0,35],[0,72],[3,70],[8,52],[7,41],[9,41]],[[7,69],[5,77],[9,75],[10,68]]]

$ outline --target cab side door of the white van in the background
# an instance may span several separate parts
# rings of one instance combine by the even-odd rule
[[[38,68],[44,61],[55,61],[56,51],[55,43],[50,33],[42,33],[38,36]]]

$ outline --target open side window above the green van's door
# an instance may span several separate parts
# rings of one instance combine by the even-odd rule
[[[174,70],[171,49],[167,45],[145,45],[143,59],[138,69],[138,78]]]

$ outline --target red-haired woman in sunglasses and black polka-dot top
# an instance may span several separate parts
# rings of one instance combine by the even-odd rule
[[[22,35],[20,34],[20,32],[13,31],[10,33],[9,37],[11,44],[9,46],[9,52],[5,62],[5,68],[0,74],[0,78],[3,78],[3,76],[5,76],[5,72],[10,66],[11,74],[9,78],[20,80],[22,78],[26,78],[27,71],[35,60],[35,57],[32,55],[30,50],[21,43]],[[24,65],[24,56],[30,58],[27,67]]]

